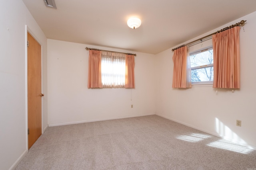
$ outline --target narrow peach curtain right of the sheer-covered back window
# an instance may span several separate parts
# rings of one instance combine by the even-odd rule
[[[126,55],[125,57],[125,88],[135,88],[134,77],[134,55]]]

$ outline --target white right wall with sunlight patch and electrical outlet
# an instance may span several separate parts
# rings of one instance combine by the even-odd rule
[[[212,86],[193,86],[186,90],[173,89],[173,52],[170,48],[156,55],[156,114],[256,148],[256,74],[254,72],[256,12],[182,44],[204,37],[241,20],[247,20],[247,22],[240,31],[240,90],[232,92],[232,90],[218,89],[216,94],[217,89]],[[236,119],[242,121],[242,127],[236,126]]]

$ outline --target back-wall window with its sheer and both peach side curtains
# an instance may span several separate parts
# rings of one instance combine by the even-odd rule
[[[89,51],[88,88],[135,88],[134,55]]]

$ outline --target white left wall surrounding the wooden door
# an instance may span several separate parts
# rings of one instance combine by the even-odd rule
[[[0,5],[0,169],[15,168],[27,152],[26,25],[43,47],[47,80],[47,40],[22,0]],[[47,94],[46,84],[43,84]],[[47,96],[47,95],[46,95]],[[47,97],[46,97],[47,98]],[[47,127],[47,109],[43,129]]]

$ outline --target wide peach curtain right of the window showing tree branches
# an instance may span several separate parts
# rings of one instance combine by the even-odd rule
[[[240,26],[212,35],[213,88],[240,88]]]

